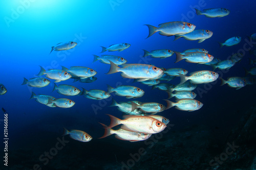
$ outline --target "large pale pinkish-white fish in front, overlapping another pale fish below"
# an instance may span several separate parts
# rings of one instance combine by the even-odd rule
[[[148,117],[148,116],[134,116],[134,115],[125,115],[125,119],[119,119],[115,116],[107,114],[110,116],[111,123],[108,128],[113,128],[117,125],[122,124],[121,129],[131,131],[131,132],[141,132],[141,133],[150,133],[155,134],[163,131],[166,128],[166,125],[159,120]]]

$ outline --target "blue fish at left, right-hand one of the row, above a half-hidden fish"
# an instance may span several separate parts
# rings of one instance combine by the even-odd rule
[[[74,78],[79,77],[80,79],[86,79],[88,77],[92,77],[97,74],[97,72],[95,70],[93,70],[89,67],[72,66],[68,69],[64,66],[61,66],[61,68],[62,68],[62,70],[69,72],[69,74]]]

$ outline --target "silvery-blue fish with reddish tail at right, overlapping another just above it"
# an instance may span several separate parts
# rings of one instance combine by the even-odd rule
[[[201,53],[201,52],[185,53],[184,56],[177,52],[175,52],[175,54],[176,54],[175,63],[183,59],[186,59],[185,61],[188,63],[204,64],[204,63],[211,62],[214,59],[214,56],[208,53]]]

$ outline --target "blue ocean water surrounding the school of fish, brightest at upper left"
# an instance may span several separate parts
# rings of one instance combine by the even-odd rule
[[[101,89],[105,91],[107,91],[107,84],[112,87],[118,84],[132,85],[145,91],[145,94],[137,99],[138,101],[166,105],[163,101],[168,97],[166,92],[158,89],[152,90],[152,87],[140,83],[132,83],[133,80],[130,79],[122,79],[120,73],[106,75],[110,65],[99,61],[92,63],[93,55],[116,55],[126,59],[127,63],[184,68],[188,70],[188,73],[197,70],[212,70],[207,65],[185,61],[174,63],[176,55],[166,59],[142,58],[142,49],[147,51],[169,49],[182,52],[189,48],[204,48],[214,57],[225,60],[233,53],[243,50],[248,41],[247,36],[256,32],[256,3],[254,1],[3,0],[0,2],[0,7],[2,18],[0,20],[0,83],[4,84],[8,90],[6,94],[0,96],[0,106],[8,112],[9,132],[9,166],[8,168],[3,166],[2,161],[0,167],[3,169],[33,169],[34,164],[41,165],[42,169],[122,169],[121,162],[126,163],[131,159],[130,153],[134,154],[138,152],[139,148],[146,149],[148,147],[144,141],[122,141],[116,139],[114,135],[97,139],[104,133],[98,122],[110,124],[110,119],[105,114],[119,118],[122,116],[117,107],[108,107],[112,103],[111,99],[96,101],[83,98],[83,96],[64,96],[56,91],[52,92],[54,80],[50,79],[50,85],[43,88],[21,85],[24,78],[36,77],[35,75],[40,70],[39,65],[46,69],[61,69],[61,66],[67,68],[87,66],[98,72],[95,75],[98,79],[93,83],[73,83],[73,79],[69,79],[57,83],[57,85],[69,84],[79,89],[83,87],[87,90]],[[221,18],[207,18],[204,15],[197,16],[193,7],[200,7],[201,10],[227,8],[230,10],[230,14]],[[15,12],[18,13],[15,15]],[[158,26],[160,23],[170,21],[187,21],[196,25],[196,29],[210,30],[214,34],[202,43],[183,38],[173,41],[174,36],[165,37],[158,33],[145,39],[148,35],[148,28],[143,25]],[[219,47],[218,42],[225,42],[234,36],[242,37],[242,41],[238,45]],[[51,46],[66,41],[75,41],[78,44],[71,50],[53,51],[49,55]],[[111,44],[123,42],[130,43],[131,46],[122,52],[100,54],[100,46],[108,47]],[[255,50],[256,48],[253,46],[251,49]],[[246,51],[242,61],[231,67],[221,77],[225,80],[228,77],[245,77],[243,68],[253,67],[249,65],[249,58],[255,59],[255,56]],[[178,84],[179,81],[179,78],[175,78],[168,83]],[[172,142],[173,133],[176,135],[177,133],[191,133],[190,130],[194,128],[195,132],[208,136],[212,145],[217,144],[220,150],[209,152],[208,148],[199,147],[203,148],[202,152],[207,153],[206,155],[210,155],[209,159],[201,161],[200,164],[204,163],[204,166],[196,164],[191,167],[186,166],[184,169],[210,167],[208,162],[223,152],[222,148],[226,147],[227,137],[231,130],[239,124],[247,110],[255,107],[256,101],[255,85],[247,85],[236,90],[227,85],[220,86],[220,84],[221,81],[217,80],[214,85],[201,84],[194,90],[197,93],[196,100],[204,104],[200,110],[185,112],[170,108],[159,113],[168,118],[170,124],[174,126],[166,134],[163,134],[153,149],[160,150],[164,143]],[[200,90],[205,91],[200,95],[199,93],[202,92]],[[37,103],[34,99],[29,100],[32,91],[35,94],[47,94],[55,98],[68,98],[76,104],[67,109],[50,108]],[[121,96],[113,96],[113,98],[118,103],[131,101]],[[1,138],[4,138],[2,137],[3,117],[1,114]],[[63,127],[68,130],[85,131],[93,139],[90,142],[79,142],[65,136],[69,143],[58,151],[46,165],[42,165],[44,162],[39,161],[38,158],[55,146],[57,138],[62,138]],[[183,140],[185,142],[188,139],[184,138]],[[194,143],[195,145],[191,144],[188,149],[197,148],[201,142],[204,141],[198,139]],[[160,143],[161,145],[159,145]],[[4,145],[1,147],[4,148]],[[147,153],[150,152],[152,152],[151,148],[147,150]],[[170,160],[173,159],[171,155],[175,154],[172,151],[169,151],[168,154],[159,152],[153,153],[150,157],[152,160],[161,157]],[[179,160],[186,160],[190,156],[189,152],[182,152],[178,155]],[[252,159],[253,157],[247,158],[247,160]],[[166,166],[165,164],[160,166],[160,163],[153,165],[152,161],[143,160],[143,157],[130,167],[130,169],[153,168],[182,169],[178,165],[170,163],[166,163]],[[219,169],[221,169],[221,165]]]

